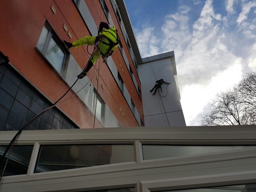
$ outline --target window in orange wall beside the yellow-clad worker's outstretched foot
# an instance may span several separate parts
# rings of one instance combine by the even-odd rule
[[[67,53],[61,46],[61,40],[48,23],[42,28],[36,48],[54,69],[61,73]]]

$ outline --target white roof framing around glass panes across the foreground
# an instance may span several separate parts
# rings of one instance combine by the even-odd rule
[[[16,132],[1,132],[8,144]],[[135,161],[33,173],[40,144],[133,143]],[[136,187],[137,191],[256,182],[256,150],[143,160],[142,144],[255,145],[256,126],[133,127],[23,131],[15,144],[33,144],[27,175],[4,177],[1,191],[86,191]]]

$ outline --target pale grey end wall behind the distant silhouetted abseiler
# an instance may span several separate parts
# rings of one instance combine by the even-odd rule
[[[142,102],[146,126],[185,125],[180,103],[178,83],[175,79],[175,61],[174,59],[171,59],[170,56],[166,57],[166,55],[167,54],[164,54],[165,57],[163,58],[161,58],[161,55],[144,58],[143,61],[147,62],[139,65],[139,76],[141,80]],[[153,60],[152,58],[156,60]],[[165,82],[170,82],[171,84],[168,86],[162,85],[162,92],[158,89],[156,94],[153,95],[154,91],[150,93],[150,90],[155,86],[156,81],[161,78]],[[179,113],[176,113],[177,111]],[[167,120],[165,117],[167,117]]]

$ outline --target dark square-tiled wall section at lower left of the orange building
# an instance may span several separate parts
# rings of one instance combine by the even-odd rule
[[[11,65],[0,68],[0,131],[78,129],[56,106],[29,122],[52,105]],[[15,82],[15,83],[14,83]],[[17,87],[17,85],[19,85]],[[0,152],[1,154],[1,152]]]

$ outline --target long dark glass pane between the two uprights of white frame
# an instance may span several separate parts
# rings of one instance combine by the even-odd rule
[[[133,144],[42,145],[36,173],[134,161]]]

